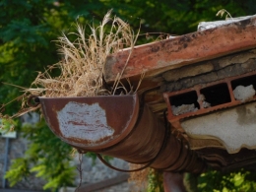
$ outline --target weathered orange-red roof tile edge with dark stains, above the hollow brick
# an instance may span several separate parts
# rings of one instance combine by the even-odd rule
[[[107,82],[114,81],[125,68],[123,78],[140,77],[146,72],[145,79],[148,79],[170,69],[256,47],[255,23],[253,16],[214,29],[134,47],[127,66],[130,50],[120,51],[107,57],[104,77]]]

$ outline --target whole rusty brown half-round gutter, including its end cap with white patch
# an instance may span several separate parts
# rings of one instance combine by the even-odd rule
[[[137,95],[39,97],[51,130],[84,152],[149,163],[165,171],[202,172],[205,162],[173,137]],[[141,105],[141,106],[140,106]]]

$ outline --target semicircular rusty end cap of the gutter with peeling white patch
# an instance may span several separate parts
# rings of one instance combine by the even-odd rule
[[[46,122],[63,141],[99,150],[123,140],[138,118],[136,96],[39,97]]]

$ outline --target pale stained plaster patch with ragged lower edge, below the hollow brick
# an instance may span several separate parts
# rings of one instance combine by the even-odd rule
[[[256,149],[256,102],[187,119],[181,127],[192,138],[217,139],[229,154]]]

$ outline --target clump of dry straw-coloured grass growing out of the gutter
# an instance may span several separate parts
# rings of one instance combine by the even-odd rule
[[[126,47],[131,47],[131,54],[138,34],[120,18],[111,17],[111,11],[106,13],[98,27],[88,25],[87,28],[90,28],[91,34],[86,34],[85,28],[77,24],[77,32],[63,33],[56,40],[62,60],[48,66],[45,72],[39,72],[30,89],[21,88],[25,92],[23,96],[18,97],[23,102],[21,110],[9,118],[38,108],[27,106],[26,102],[30,96],[105,96],[114,95],[118,87],[122,86],[120,79],[123,72],[118,74],[111,88],[104,87],[105,59],[109,54]],[[71,41],[70,35],[75,36],[75,40]],[[60,70],[58,77],[51,77],[53,69]],[[0,106],[0,118],[8,117],[1,114],[5,105]]]

